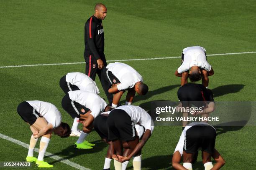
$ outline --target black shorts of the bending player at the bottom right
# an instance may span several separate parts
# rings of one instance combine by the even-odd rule
[[[186,153],[196,153],[199,148],[213,153],[215,148],[216,130],[210,125],[195,125],[186,131],[184,148]]]

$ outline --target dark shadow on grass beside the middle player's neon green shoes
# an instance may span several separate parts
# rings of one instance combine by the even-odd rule
[[[76,149],[76,148],[74,148],[74,145],[70,145],[69,147],[61,150],[59,153],[54,153],[54,155],[60,155],[60,156],[64,155],[64,158],[61,160],[69,160],[69,159],[74,158],[79,155],[100,152],[103,150],[103,148],[106,148],[108,146],[102,140],[97,140],[93,143],[95,144],[95,146],[93,146],[93,149]],[[53,156],[53,155],[46,156],[45,158],[50,157],[50,156]],[[57,163],[61,160],[55,160],[55,161],[51,162],[50,164]]]

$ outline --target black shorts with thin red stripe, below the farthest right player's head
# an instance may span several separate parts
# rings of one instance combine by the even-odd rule
[[[190,104],[202,107],[206,103],[214,101],[212,91],[205,88],[202,84],[184,84],[182,87],[179,87],[177,95],[183,107],[189,107]]]

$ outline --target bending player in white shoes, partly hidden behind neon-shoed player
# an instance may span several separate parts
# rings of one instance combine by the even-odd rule
[[[67,75],[61,77],[59,85],[64,93],[67,95],[69,91],[82,90],[99,94],[100,90],[96,83],[87,75],[81,72],[69,72]],[[70,136],[80,136],[81,131],[77,130],[79,118],[75,117],[71,128]]]

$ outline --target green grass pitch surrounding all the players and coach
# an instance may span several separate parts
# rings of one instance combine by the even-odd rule
[[[0,0],[0,66],[84,62],[84,23],[94,13],[95,3]],[[103,0],[102,3],[108,7],[103,21],[107,60],[179,56],[184,47],[194,45],[205,47],[207,54],[256,51],[254,0]],[[215,101],[255,101],[256,53],[207,59],[215,71],[209,85]],[[134,105],[148,109],[154,100],[178,100],[180,79],[174,76],[174,71],[180,65],[179,58],[125,63],[134,67],[149,86],[148,94],[135,97]],[[23,100],[53,103],[64,122],[72,125],[71,117],[61,107],[64,93],[59,79],[67,72],[84,70],[85,64],[0,68],[0,133],[29,143],[29,127],[16,111]],[[105,97],[98,78],[96,83],[100,95]],[[172,153],[181,132],[181,127],[156,126],[143,148],[143,170],[173,169]],[[218,129],[218,134],[216,148],[226,160],[223,169],[255,169],[256,126],[224,127]],[[76,140],[53,136],[47,152],[92,170],[102,169],[107,145],[97,133],[93,131],[88,137],[96,143],[92,150],[74,150]],[[24,161],[26,155],[26,148],[0,138],[0,162]],[[74,169],[49,157],[45,160],[54,169]],[[193,167],[204,169],[201,158]],[[128,169],[132,169],[131,162]]]

